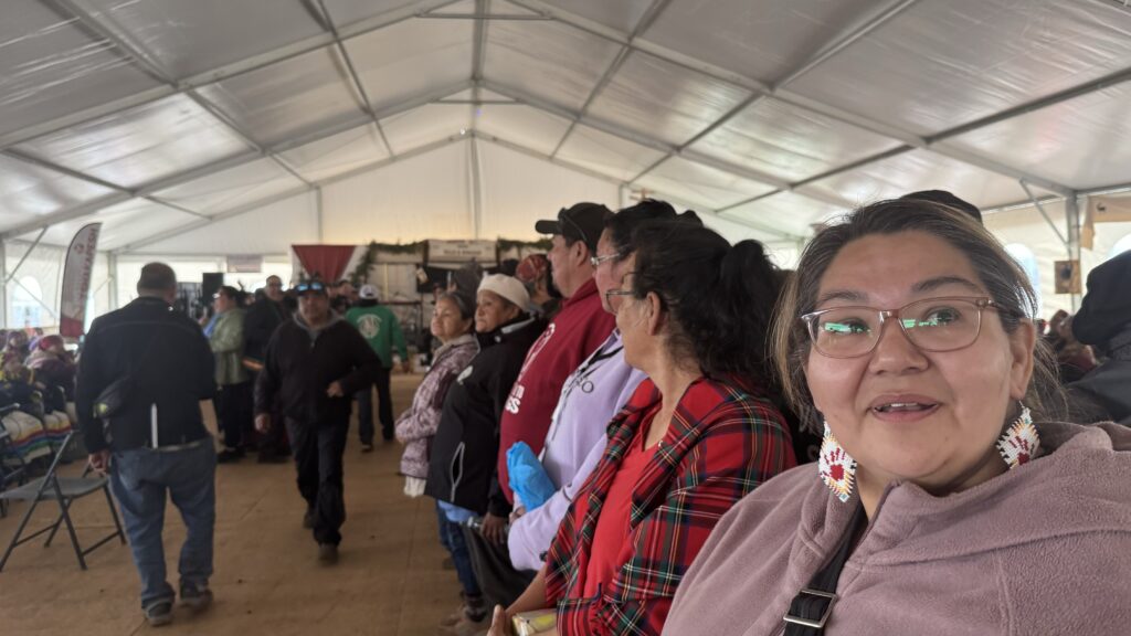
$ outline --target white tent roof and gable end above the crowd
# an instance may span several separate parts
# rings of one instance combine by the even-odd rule
[[[796,242],[1131,182],[1121,0],[10,0],[0,51],[8,241],[533,238],[645,190]]]

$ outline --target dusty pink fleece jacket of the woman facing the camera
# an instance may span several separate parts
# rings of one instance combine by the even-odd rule
[[[1046,455],[933,497],[888,488],[845,564],[827,636],[1131,634],[1131,429],[1041,424]],[[715,527],[664,634],[780,634],[858,498],[806,464]]]

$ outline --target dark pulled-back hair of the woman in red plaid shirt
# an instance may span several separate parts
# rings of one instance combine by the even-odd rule
[[[767,337],[782,275],[762,244],[731,246],[713,230],[671,221],[639,226],[632,243],[633,295],[659,296],[673,355],[693,356],[713,378],[772,388]]]

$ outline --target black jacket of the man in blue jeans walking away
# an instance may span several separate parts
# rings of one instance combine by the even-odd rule
[[[187,444],[208,436],[200,401],[216,392],[208,341],[200,326],[164,300],[143,296],[90,325],[78,364],[75,407],[87,450],[150,446],[150,405],[157,405],[157,442]],[[110,418],[111,440],[94,418],[94,402],[111,383],[132,373],[133,389]]]

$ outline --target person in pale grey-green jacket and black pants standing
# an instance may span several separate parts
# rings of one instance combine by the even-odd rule
[[[240,292],[224,285],[213,299],[216,324],[208,336],[208,344],[216,356],[216,416],[224,433],[224,450],[216,459],[235,462],[243,457],[244,447],[251,441],[252,395],[251,380],[243,367],[243,320]]]

